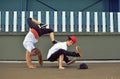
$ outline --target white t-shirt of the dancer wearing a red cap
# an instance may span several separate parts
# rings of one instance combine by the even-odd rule
[[[47,55],[47,59],[56,51],[58,51],[59,49],[64,49],[67,50],[67,44],[66,42],[58,42],[55,45],[53,45],[49,51],[48,51],[48,55]]]

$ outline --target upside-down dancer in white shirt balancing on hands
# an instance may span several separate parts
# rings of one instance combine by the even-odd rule
[[[46,24],[42,24],[33,18],[28,18],[27,22],[30,30],[23,41],[23,46],[26,49],[26,63],[28,68],[36,68],[36,66],[32,64],[32,56],[38,55],[38,62],[40,65],[43,65],[42,53],[40,49],[34,46],[34,44],[38,42],[38,38],[49,33],[52,43],[55,44],[56,41],[53,30],[46,28]]]

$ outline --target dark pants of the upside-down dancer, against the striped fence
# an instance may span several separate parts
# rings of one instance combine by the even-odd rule
[[[28,18],[27,22],[28,22],[28,25],[29,25],[30,28],[33,28],[33,29],[35,29],[37,31],[37,33],[38,33],[39,36],[42,36],[44,34],[53,32],[52,29],[39,28],[38,25],[36,25],[35,23],[32,22],[31,18]]]

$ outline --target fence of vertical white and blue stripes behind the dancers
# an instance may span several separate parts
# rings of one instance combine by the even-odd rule
[[[28,17],[55,32],[120,32],[120,12],[0,11],[1,32],[28,32]]]

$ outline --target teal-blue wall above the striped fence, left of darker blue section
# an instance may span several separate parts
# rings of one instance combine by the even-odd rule
[[[104,5],[104,0],[0,0],[0,11],[105,11]]]

